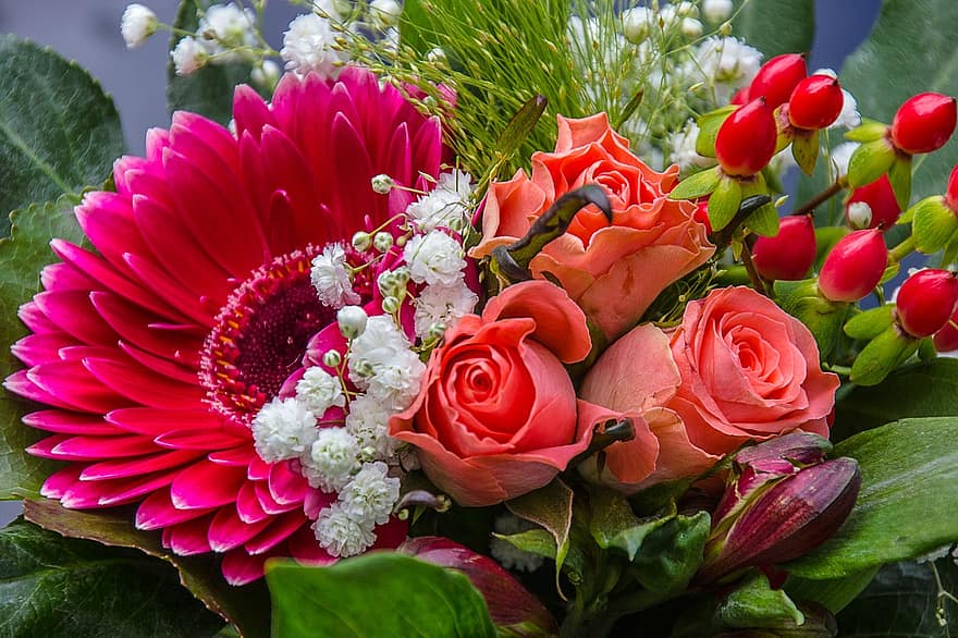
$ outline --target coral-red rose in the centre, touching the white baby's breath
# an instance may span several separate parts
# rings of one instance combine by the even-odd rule
[[[562,364],[591,347],[586,317],[562,289],[512,285],[445,333],[390,434],[418,447],[427,476],[460,505],[538,489],[589,446],[592,428],[577,421]]]

